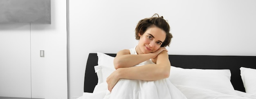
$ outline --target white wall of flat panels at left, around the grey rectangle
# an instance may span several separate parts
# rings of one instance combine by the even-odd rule
[[[51,18],[0,24],[0,97],[67,99],[66,0],[51,0]]]

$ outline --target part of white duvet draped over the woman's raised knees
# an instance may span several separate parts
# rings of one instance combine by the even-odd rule
[[[120,79],[110,99],[186,99],[168,79],[143,81]]]

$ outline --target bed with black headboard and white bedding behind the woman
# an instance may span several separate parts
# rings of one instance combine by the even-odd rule
[[[94,92],[95,86],[100,84],[94,66],[111,64],[109,61],[115,56],[112,53],[89,53],[84,93]],[[169,55],[169,60],[172,67],[168,79],[177,84],[188,99],[256,99],[256,56]],[[232,88],[227,88],[228,84]],[[83,97],[79,98],[86,99]]]

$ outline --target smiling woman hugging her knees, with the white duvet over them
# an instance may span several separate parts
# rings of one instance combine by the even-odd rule
[[[171,64],[166,46],[172,35],[158,14],[140,20],[135,29],[135,48],[121,50],[114,59],[115,71],[107,78],[110,98],[186,99],[166,78]]]

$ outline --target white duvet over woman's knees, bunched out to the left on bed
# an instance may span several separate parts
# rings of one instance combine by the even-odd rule
[[[84,92],[81,99],[187,99],[168,79],[141,81],[120,79],[110,93],[107,83],[95,86],[93,93]],[[167,82],[167,83],[166,83]],[[162,84],[156,86],[156,84]]]

